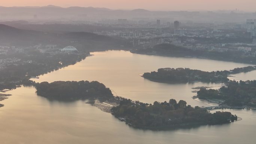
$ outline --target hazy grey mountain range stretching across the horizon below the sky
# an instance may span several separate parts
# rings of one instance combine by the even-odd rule
[[[243,22],[244,18],[256,19],[254,13],[232,13],[229,11],[150,11],[146,9],[134,10],[118,10],[108,9],[104,7],[59,7],[54,5],[48,6],[25,6],[25,7],[0,7],[1,21],[47,21],[47,22],[63,22],[63,21],[80,21],[86,22],[99,22],[117,19],[128,20],[150,20],[156,21],[160,19],[169,19],[168,21],[196,21],[196,22]],[[173,20],[171,20],[173,19]],[[74,22],[74,23],[76,23]],[[77,22],[79,23],[79,22]]]

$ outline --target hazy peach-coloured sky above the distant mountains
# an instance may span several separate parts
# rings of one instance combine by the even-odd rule
[[[148,10],[223,10],[256,11],[256,0],[0,0],[1,6],[107,7]]]

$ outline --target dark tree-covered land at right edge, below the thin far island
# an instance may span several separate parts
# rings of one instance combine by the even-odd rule
[[[256,80],[230,81],[227,86],[222,86],[218,90],[201,88],[197,96],[200,99],[224,99],[224,104],[230,106],[256,107]]]

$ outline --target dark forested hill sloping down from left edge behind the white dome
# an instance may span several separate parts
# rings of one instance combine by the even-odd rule
[[[16,47],[57,44],[60,48],[64,48],[67,45],[73,45],[78,49],[87,50],[120,49],[120,46],[124,45],[121,39],[100,36],[94,33],[45,33],[42,31],[21,30],[3,24],[0,24],[0,43],[1,45]]]

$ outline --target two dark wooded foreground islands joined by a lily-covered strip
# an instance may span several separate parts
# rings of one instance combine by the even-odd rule
[[[104,112],[111,112],[121,121],[134,128],[151,130],[167,130],[201,125],[217,125],[237,120],[236,115],[229,112],[209,113],[198,106],[187,105],[186,101],[170,99],[169,103],[157,102],[147,104],[130,99],[114,97],[109,88],[99,82],[42,82],[32,83],[37,95],[57,101],[77,101],[79,99],[96,99],[100,102],[86,102]],[[115,106],[109,104],[115,103]]]

